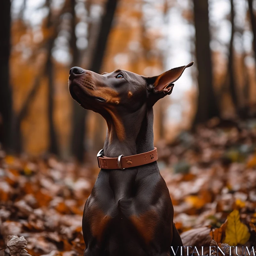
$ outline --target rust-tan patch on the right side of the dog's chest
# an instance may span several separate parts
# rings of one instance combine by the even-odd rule
[[[137,228],[140,235],[145,240],[145,243],[148,244],[154,239],[157,214],[156,211],[150,210],[140,216],[132,215],[130,217],[132,224]]]

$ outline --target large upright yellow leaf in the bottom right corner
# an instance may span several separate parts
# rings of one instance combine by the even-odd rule
[[[227,243],[230,246],[245,244],[250,238],[250,233],[247,226],[240,221],[239,212],[234,210],[228,215],[227,220],[228,223],[224,243]]]

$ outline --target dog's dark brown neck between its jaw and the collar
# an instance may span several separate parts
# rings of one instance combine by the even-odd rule
[[[153,108],[142,106],[135,113],[130,113],[122,120],[124,139],[117,136],[114,122],[107,121],[108,129],[104,143],[104,156],[131,156],[154,149]]]

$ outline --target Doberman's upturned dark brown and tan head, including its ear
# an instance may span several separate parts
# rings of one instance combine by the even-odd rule
[[[138,113],[142,107],[151,108],[157,100],[171,94],[173,83],[193,63],[153,77],[120,69],[100,75],[74,67],[69,72],[69,92],[83,108],[100,113],[107,122],[111,119],[123,129],[122,116]]]

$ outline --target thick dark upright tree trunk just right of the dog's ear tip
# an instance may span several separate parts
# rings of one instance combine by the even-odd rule
[[[199,89],[197,113],[194,122],[198,124],[220,114],[212,84],[212,58],[207,0],[194,0],[194,21]]]

